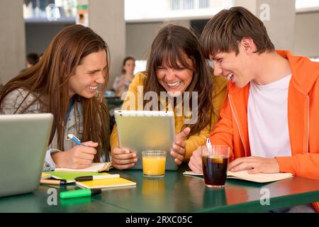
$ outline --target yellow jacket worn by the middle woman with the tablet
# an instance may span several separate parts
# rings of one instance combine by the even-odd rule
[[[142,72],[135,75],[130,87],[128,88],[128,92],[132,92],[135,97],[138,97],[138,87],[145,87],[147,74]],[[207,125],[200,131],[199,134],[191,135],[188,140],[186,140],[186,155],[184,158],[184,162],[188,162],[194,150],[198,148],[198,146],[205,145],[206,139],[209,134],[215,128],[215,123],[219,121],[219,113],[220,106],[223,104],[225,100],[226,92],[227,92],[227,84],[228,80],[224,77],[216,77],[213,76],[215,89],[213,89],[213,108],[214,114],[211,121],[211,128]],[[127,101],[130,101],[128,96],[125,97],[122,109],[123,110],[137,110],[138,109],[138,101],[134,101],[135,105],[125,105]],[[131,100],[132,101],[132,100]],[[135,108],[135,109],[133,109]],[[174,109],[174,119],[175,119],[175,133],[179,133],[181,128],[184,126],[184,116],[177,116],[177,109]],[[118,147],[118,135],[116,131],[116,126],[114,126],[113,131],[111,133],[111,151],[113,152],[113,148]]]

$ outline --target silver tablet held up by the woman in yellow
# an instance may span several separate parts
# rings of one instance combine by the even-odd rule
[[[173,111],[114,111],[118,145],[138,153],[138,162],[131,170],[142,170],[143,150],[165,150],[166,170],[177,170],[170,154],[175,140]]]

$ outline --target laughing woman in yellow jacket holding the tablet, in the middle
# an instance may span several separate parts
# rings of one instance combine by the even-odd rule
[[[227,82],[208,70],[194,33],[182,26],[168,25],[155,37],[147,72],[135,75],[122,109],[174,111],[177,135],[170,155],[180,165],[206,143],[218,122]],[[158,98],[150,98],[150,94]],[[119,170],[133,167],[138,161],[133,150],[118,148],[116,127],[111,134],[111,152],[113,166]]]

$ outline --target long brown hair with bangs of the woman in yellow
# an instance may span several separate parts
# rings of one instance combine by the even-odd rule
[[[185,59],[185,56],[193,62],[191,67]],[[186,127],[191,128],[189,136],[198,134],[208,124],[211,127],[213,117],[213,75],[208,72],[208,64],[201,52],[201,45],[198,38],[192,31],[183,26],[167,25],[162,28],[152,43],[150,58],[147,62],[147,80],[145,92],[165,92],[164,87],[159,84],[156,71],[162,64],[178,69],[180,66],[193,71],[191,84],[185,92],[190,92],[190,109],[194,111],[197,108],[198,118],[194,124],[185,124],[181,130]],[[198,92],[198,105],[192,106],[191,92]]]

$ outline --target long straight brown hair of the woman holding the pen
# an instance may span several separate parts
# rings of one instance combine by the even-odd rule
[[[28,95],[35,96],[35,100],[29,106],[35,101],[39,101],[41,111],[53,114],[54,121],[50,143],[56,132],[57,147],[59,150],[64,150],[65,116],[69,111],[70,101],[69,79],[75,74],[77,66],[81,65],[84,57],[100,50],[106,51],[106,62],[109,63],[108,46],[90,28],[74,25],[62,29],[53,38],[43,57],[35,66],[18,74],[6,84],[0,94],[0,104],[4,97],[14,89],[25,89],[29,92]],[[98,96],[86,99],[77,94],[74,95],[74,105],[77,105],[77,102],[83,105],[84,127],[81,139],[99,143],[99,152],[94,157],[95,162],[100,161],[103,153],[106,153],[108,160],[109,116],[106,105],[103,104],[103,93],[106,90],[107,82],[108,67],[106,68],[105,83]],[[29,106],[21,113],[25,112]]]

